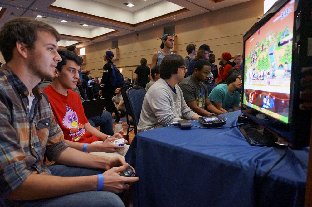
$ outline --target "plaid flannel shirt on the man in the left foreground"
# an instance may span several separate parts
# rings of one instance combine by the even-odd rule
[[[35,87],[29,112],[28,90],[7,66],[0,70],[0,197],[16,189],[33,171],[51,174],[39,164],[69,147],[48,101]],[[42,100],[41,100],[42,99]]]

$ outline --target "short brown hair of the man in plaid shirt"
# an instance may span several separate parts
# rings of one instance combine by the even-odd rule
[[[28,49],[32,49],[37,40],[37,32],[51,33],[56,41],[61,37],[52,26],[36,19],[28,17],[16,17],[6,22],[0,30],[0,51],[6,62],[12,60],[13,49],[16,42],[24,43]]]

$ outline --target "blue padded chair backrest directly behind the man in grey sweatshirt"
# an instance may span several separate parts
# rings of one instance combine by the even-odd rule
[[[141,116],[142,104],[146,94],[146,90],[140,86],[134,86],[127,90],[127,96],[132,111],[132,119],[134,125],[134,132],[137,131],[137,126]]]

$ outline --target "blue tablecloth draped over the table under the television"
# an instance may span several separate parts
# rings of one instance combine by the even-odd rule
[[[224,126],[238,124],[239,115],[222,114]],[[249,145],[237,127],[141,132],[126,155],[140,178],[134,206],[303,206],[309,147],[288,149],[261,182],[284,153],[285,148]]]

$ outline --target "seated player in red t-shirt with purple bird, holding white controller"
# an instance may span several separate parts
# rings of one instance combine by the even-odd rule
[[[55,78],[51,85],[43,91],[48,95],[54,118],[64,133],[66,143],[70,147],[96,155],[114,157],[119,155],[111,152],[118,152],[124,156],[128,145],[111,143],[122,137],[121,134],[110,137],[91,126],[85,117],[79,95],[71,90],[76,88],[79,79],[81,59],[67,50],[58,50],[58,53],[62,61],[56,66]]]

